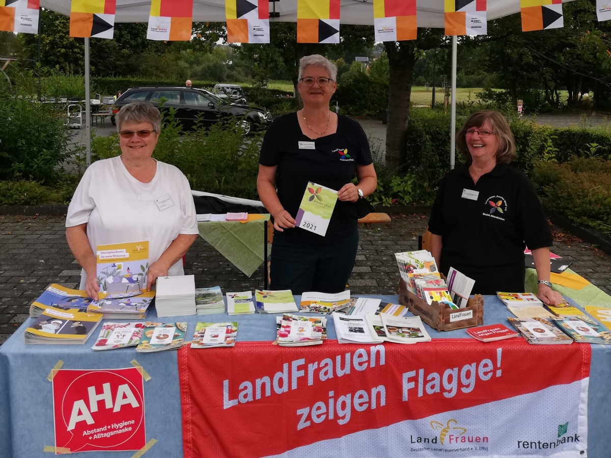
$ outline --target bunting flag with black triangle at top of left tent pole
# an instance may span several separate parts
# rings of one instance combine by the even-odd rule
[[[117,0],[72,0],[70,36],[112,40],[116,4]]]

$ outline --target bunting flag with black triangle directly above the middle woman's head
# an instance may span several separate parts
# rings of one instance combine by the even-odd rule
[[[297,42],[339,43],[340,0],[297,0]]]

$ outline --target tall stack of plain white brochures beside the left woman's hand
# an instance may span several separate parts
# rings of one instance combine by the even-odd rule
[[[155,308],[159,318],[196,314],[195,277],[157,277]]]

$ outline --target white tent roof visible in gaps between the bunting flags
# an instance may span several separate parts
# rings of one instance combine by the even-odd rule
[[[570,0],[563,0],[563,2]],[[342,24],[373,25],[373,0],[340,0]],[[488,20],[500,18],[520,11],[519,0],[488,0]],[[117,0],[115,22],[148,22],[150,0]],[[274,6],[279,18],[272,21],[295,22],[297,20],[297,0],[277,0],[269,3]],[[70,15],[70,0],[40,0],[40,6],[49,10]],[[444,0],[417,0],[419,27],[444,27]],[[194,0],[194,21],[225,21],[225,0]]]

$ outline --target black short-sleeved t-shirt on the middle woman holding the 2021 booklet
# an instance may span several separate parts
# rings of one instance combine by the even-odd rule
[[[365,132],[356,121],[338,115],[337,132],[312,140],[299,127],[296,113],[277,118],[263,139],[259,164],[277,165],[276,189],[280,203],[293,218],[309,181],[339,191],[356,175],[356,164],[371,164]],[[337,209],[337,207],[336,207]],[[274,232],[274,238],[327,243],[353,233],[356,219],[331,216],[323,237],[301,228]]]

